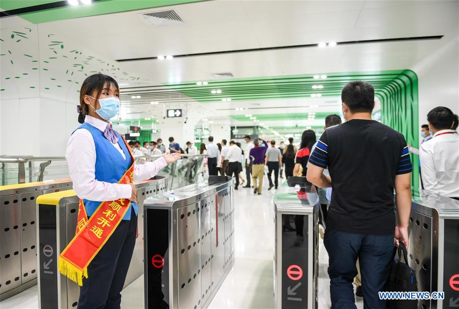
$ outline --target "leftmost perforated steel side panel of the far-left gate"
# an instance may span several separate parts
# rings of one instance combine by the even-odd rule
[[[19,194],[0,197],[0,293],[21,285]]]

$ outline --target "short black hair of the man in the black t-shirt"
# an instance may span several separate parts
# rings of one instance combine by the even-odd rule
[[[351,113],[369,112],[374,108],[374,88],[368,82],[347,83],[341,91],[341,101]]]

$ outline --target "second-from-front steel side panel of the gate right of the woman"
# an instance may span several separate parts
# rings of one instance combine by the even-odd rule
[[[207,197],[200,201],[200,234],[201,234],[201,302],[205,303],[210,296],[211,277],[211,245],[215,241],[212,237],[211,210],[215,208],[215,197]]]

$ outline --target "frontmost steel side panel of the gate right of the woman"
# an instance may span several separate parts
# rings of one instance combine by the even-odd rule
[[[200,302],[201,296],[201,247],[203,238],[200,234],[200,218],[197,208],[199,203],[192,203],[177,210],[177,261],[179,283],[179,306],[192,308]]]

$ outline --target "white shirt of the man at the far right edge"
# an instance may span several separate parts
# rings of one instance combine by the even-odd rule
[[[438,131],[432,139],[421,144],[419,156],[424,189],[443,196],[459,197],[459,135],[457,132]]]

